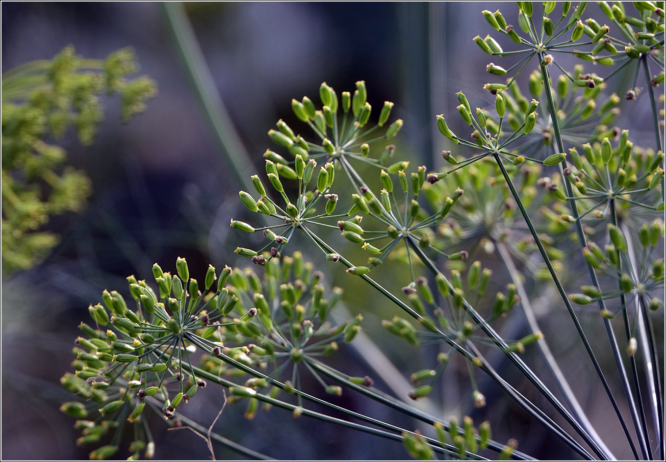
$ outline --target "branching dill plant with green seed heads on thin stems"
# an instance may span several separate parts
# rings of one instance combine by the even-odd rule
[[[462,417],[462,424],[460,416],[444,422],[437,409],[432,409],[435,416],[431,416],[410,405],[410,400],[432,396],[446,366],[456,357],[469,371],[466,403],[486,405],[478,386],[478,375],[485,373],[572,454],[589,460],[614,459],[607,447],[608,435],[597,433],[551,353],[549,342],[557,339],[541,333],[531,308],[534,297],[527,293],[529,284],[533,294],[548,288],[559,294],[552,306],[570,316],[585,349],[581,357],[595,369],[593,381],[598,379],[605,390],[627,450],[636,459],[663,459],[663,371],[653,324],[655,320],[663,323],[664,304],[663,122],[655,95],[664,80],[664,4],[635,2],[635,11],[628,13],[621,3],[598,2],[623,38],[593,19],[583,23],[586,5],[518,2],[519,28],[507,24],[500,11],[483,11],[489,25],[520,49],[503,51],[490,35],[474,38],[481,49],[496,58],[525,57],[508,69],[496,64],[498,59],[486,67],[496,76],[518,69],[507,81],[484,86],[495,96],[494,107],[473,110],[466,95],[457,94],[456,109],[473,130],[470,136],[456,135],[444,115],[436,116],[450,142],[451,150],[442,152],[447,168],[418,166],[410,172],[410,162],[390,162],[396,148],[384,146],[384,140],[397,134],[402,120],[389,123],[393,104],[385,102],[376,124],[370,122],[375,119],[364,81],[356,83],[353,93],[339,95],[322,83],[321,106],[309,97],[292,100],[294,115],[308,132],[314,132],[314,141],[279,120],[277,129],[268,132],[280,147],[278,152],[264,154],[267,181],[252,176],[254,192],[240,192],[242,204],[256,214],[256,222],[230,223],[242,232],[264,234],[264,246],[236,248],[263,274],[258,276],[252,268],[226,267],[218,276],[210,267],[203,291],[208,293],[202,293],[189,277],[186,262],[179,259],[180,277],[155,266],[159,298],[146,282],[129,278],[136,311],[127,309],[119,294],[105,292],[103,300],[113,316],[109,318],[101,305],[91,306],[91,314],[99,326],[111,322],[116,329],[104,333],[82,324],[89,338],[80,338],[79,344],[88,351],[77,347],[79,370],[63,377],[68,389],[79,395],[83,390],[82,397],[101,404],[76,401],[64,410],[83,419],[101,407],[101,417],[78,425],[103,432],[121,428],[128,415],[130,421],[141,421],[148,403],[172,424],[201,431],[192,421],[178,417],[176,407],[204,380],[226,387],[230,401],[246,401],[245,415],[250,419],[260,405],[264,410],[276,406],[290,410],[294,417],[314,417],[402,441],[408,453],[419,459],[433,459],[436,453],[461,459],[531,459],[516,451],[513,439],[505,445],[492,441],[488,422],[477,428],[470,417]],[[590,39],[582,39],[584,34]],[[557,63],[557,53],[571,53],[611,71],[601,77],[576,66],[569,73]],[[532,58],[538,69],[529,77],[530,101],[516,77]],[[650,101],[653,148],[634,146],[628,130],[609,126],[619,114],[620,99],[606,95],[605,85],[632,63],[635,79],[643,69],[647,97],[639,95],[634,79],[625,99],[638,104]],[[551,76],[555,68],[558,74],[561,71],[557,79]],[[375,147],[379,142],[379,148]],[[357,170],[359,166],[365,169]],[[340,174],[347,177],[352,190],[339,188],[336,177]],[[294,182],[292,188],[285,187],[289,182]],[[327,229],[328,233],[321,232]],[[356,252],[343,255],[336,250],[345,241],[331,239],[330,230],[339,230],[341,238],[356,244]],[[384,320],[382,326],[430,365],[413,371],[414,387],[407,396],[391,397],[376,389],[369,377],[350,377],[320,359],[336,351],[338,342],[354,339],[362,318],[328,324],[340,290],[328,290],[322,284],[323,273],[312,272],[300,252],[283,256],[286,247],[294,245],[297,232],[312,241],[325,260],[343,264],[348,277],[362,278],[404,310],[404,317]],[[404,271],[386,285],[374,280],[373,271],[394,257],[404,262]],[[484,268],[492,260],[501,262],[506,272],[503,279],[511,280],[509,284],[500,286],[500,278]],[[213,290],[216,276],[218,285]],[[567,290],[571,281],[578,287],[582,280],[587,282],[580,288],[582,293]],[[610,371],[597,360],[587,340],[591,332],[579,321],[578,306],[598,307],[628,410],[621,409],[607,378]],[[516,310],[525,313],[529,332],[505,338],[503,319],[514,316]],[[624,334],[624,349],[616,338],[617,329]],[[429,344],[439,346],[436,357],[428,357],[432,349],[423,349]],[[555,377],[563,399],[522,359],[521,353],[530,346],[543,353],[545,367]],[[198,365],[190,361],[194,349],[205,351]],[[500,375],[488,354],[493,350],[515,365],[513,372],[533,385],[533,391],[549,403],[548,409],[512,385],[515,377]],[[299,377],[305,370],[327,393],[356,391],[426,425],[408,431],[315,397],[303,389]],[[93,390],[113,388],[112,383],[121,387],[114,389],[115,395],[95,395]],[[312,411],[308,403],[363,423]],[[553,409],[559,423],[550,415]],[[113,413],[113,419],[105,419],[106,413]],[[149,431],[143,428],[143,443],[135,442],[131,448],[150,447]],[[210,437],[209,433],[209,441]],[[216,435],[217,441],[246,455],[262,457],[220,438]],[[100,441],[91,440],[82,442]],[[618,447],[617,441],[613,443]],[[91,456],[105,457],[118,447],[116,436],[111,445]]]

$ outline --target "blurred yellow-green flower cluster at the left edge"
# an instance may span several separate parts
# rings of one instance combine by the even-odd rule
[[[66,164],[53,144],[73,126],[81,144],[93,142],[104,111],[99,95],[119,95],[121,118],[145,109],[157,93],[148,77],[128,79],[139,66],[132,49],[104,60],[83,59],[66,47],[53,60],[26,63],[2,76],[3,272],[26,270],[59,237],[39,230],[49,217],[80,212],[91,192],[87,175]]]

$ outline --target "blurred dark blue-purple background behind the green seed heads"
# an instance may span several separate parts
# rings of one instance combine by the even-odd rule
[[[480,12],[500,7],[509,22],[517,23],[515,5],[493,2],[194,2],[184,7],[214,87],[252,159],[253,165],[247,168],[257,171],[263,169],[261,154],[271,146],[266,132],[276,120],[298,125],[290,109],[292,98],[308,95],[314,100],[322,81],[338,92],[353,92],[358,80],[366,81],[373,107],[393,101],[392,117],[405,120],[398,156],[409,158],[412,165],[441,166],[444,138],[434,116],[449,115],[454,131],[462,130],[463,122],[453,117],[456,91],[464,91],[473,106],[494,101],[482,91],[488,81],[484,71],[488,56],[472,41],[474,35],[492,32]],[[228,227],[230,218],[244,216],[237,195],[240,185],[230,174],[227,154],[192,92],[157,3],[3,2],[1,8],[3,73],[27,61],[50,59],[66,45],[73,45],[83,57],[97,59],[131,46],[139,58],[140,73],[159,85],[159,95],[149,101],[147,111],[129,124],[119,121],[118,101],[105,98],[106,117],[92,146],[81,146],[72,132],[59,142],[67,150],[69,163],[91,177],[89,206],[82,214],[52,219],[49,229],[62,235],[53,254],[32,270],[3,279],[2,284],[2,457],[85,459],[91,449],[75,446],[74,419],[58,407],[69,399],[59,378],[71,369],[73,340],[79,335],[79,322],[89,318],[87,306],[97,303],[105,288],[125,290],[129,274],[151,278],[155,262],[172,269],[177,256],[188,260],[199,280],[208,262],[217,268],[245,266],[247,260],[238,260],[233,250],[246,244],[248,236]],[[597,11],[590,14],[594,17]],[[575,61],[562,57],[559,63],[567,69]],[[531,70],[527,69],[525,78]],[[623,85],[624,78],[620,75],[613,85]],[[650,146],[649,113],[644,106],[624,103],[619,124],[624,128],[631,120],[633,133],[639,138],[644,134]],[[383,332],[380,321],[392,318],[397,308],[358,284],[358,278],[352,281],[339,268],[326,266],[316,249],[304,246],[304,254],[324,270],[328,284],[347,288],[344,302],[351,312],[366,317],[365,332],[403,375],[432,364],[435,350],[420,357],[415,349]],[[388,265],[378,278],[396,282],[406,277],[405,271],[404,266]],[[496,284],[507,282],[508,277],[496,271]],[[541,302],[535,308],[547,338],[557,339],[551,347],[599,433],[614,435],[621,431],[617,420],[589,361],[580,355],[581,345],[568,316],[563,310],[550,311],[547,290],[534,288],[533,295]],[[583,312],[581,321],[590,332],[601,332],[591,312]],[[663,322],[656,326],[663,345]],[[525,320],[516,315],[504,328],[519,338],[526,331]],[[612,367],[604,338],[597,342],[591,336],[591,341],[603,365]],[[538,353],[528,351],[525,360],[545,374]],[[350,348],[342,349],[331,363],[350,375],[373,375],[372,367]],[[501,357],[496,364],[503,375],[512,377],[511,383],[545,406]],[[490,419],[498,441],[516,438],[519,449],[535,457],[573,457],[485,377],[480,377],[480,387],[488,406],[474,409],[464,363],[459,369],[460,374],[447,375],[434,399],[438,407],[427,409],[430,413],[443,419],[472,415],[478,423]],[[552,384],[550,377],[543,376]],[[377,387],[390,391],[387,383],[374,378]],[[615,377],[609,380],[619,392]],[[316,383],[310,385],[316,387]],[[334,402],[406,428],[419,427],[416,421],[351,392]],[[207,427],[221,403],[220,390],[208,387],[188,403],[185,413]],[[279,409],[259,414],[254,421],[244,420],[243,411],[243,405],[227,407],[216,431],[272,457],[408,457],[398,443],[319,421],[294,420]],[[555,413],[551,415],[557,419]],[[167,431],[159,419],[154,428],[157,459],[208,458],[204,441],[196,435]],[[618,457],[630,455],[621,441],[615,445],[612,436],[605,440]],[[223,447],[216,451],[220,459],[239,457]]]

